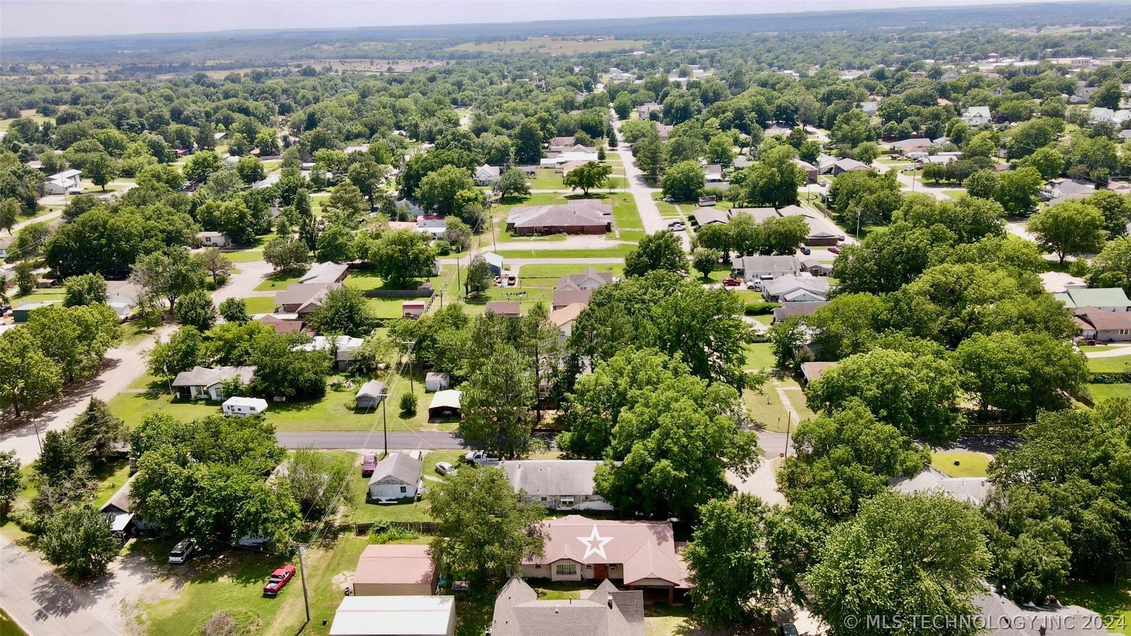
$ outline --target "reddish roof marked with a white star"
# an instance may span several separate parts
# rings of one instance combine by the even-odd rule
[[[579,564],[623,564],[624,583],[659,578],[688,587],[687,566],[675,552],[671,522],[590,519],[569,515],[542,522],[545,545],[542,557],[524,564],[553,564],[569,559]]]

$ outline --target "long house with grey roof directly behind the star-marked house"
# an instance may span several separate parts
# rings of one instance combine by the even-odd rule
[[[520,459],[499,466],[527,501],[550,510],[612,510],[612,504],[593,491],[596,459]]]

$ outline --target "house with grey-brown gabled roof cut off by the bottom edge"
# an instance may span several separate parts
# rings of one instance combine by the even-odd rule
[[[620,591],[607,578],[585,599],[538,600],[525,581],[513,577],[495,599],[491,636],[644,636],[644,591]]]

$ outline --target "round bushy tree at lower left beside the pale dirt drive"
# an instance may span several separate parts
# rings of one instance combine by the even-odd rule
[[[89,506],[59,510],[48,518],[37,547],[48,562],[74,577],[102,576],[118,558],[121,541],[110,530],[110,517]]]

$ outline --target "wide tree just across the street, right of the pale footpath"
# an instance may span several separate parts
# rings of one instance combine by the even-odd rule
[[[941,441],[953,439],[961,430],[958,390],[958,372],[946,360],[875,349],[837,362],[805,387],[805,397],[828,412],[858,398],[878,421],[907,435]]]

